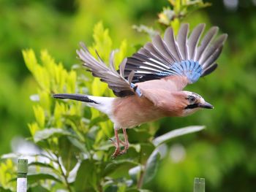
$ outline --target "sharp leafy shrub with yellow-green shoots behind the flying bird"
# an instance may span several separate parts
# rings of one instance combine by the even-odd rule
[[[184,4],[183,1],[176,1],[173,3],[176,7],[174,16],[168,15],[170,9],[164,9],[159,14],[159,22],[177,30],[181,18],[175,15],[186,15],[189,7],[195,4],[198,7],[206,6],[201,1],[191,4],[192,2],[194,1]],[[94,50],[97,50],[103,61],[108,63],[108,56],[113,50],[108,29],[102,23],[97,23],[93,38],[90,52],[95,54]],[[116,51],[116,65],[127,56],[127,49],[127,41],[124,40]],[[31,96],[35,103],[35,120],[29,123],[29,140],[40,149],[39,153],[31,155],[34,158],[29,165],[31,191],[142,191],[157,173],[162,153],[160,146],[173,137],[203,128],[181,128],[160,137],[154,137],[159,128],[157,123],[129,129],[131,145],[128,153],[112,159],[114,147],[108,139],[113,136],[113,125],[106,115],[85,107],[78,101],[60,101],[51,97],[52,93],[113,96],[108,86],[98,78],[89,76],[80,65],[67,71],[46,50],[41,51],[39,61],[33,50],[23,50],[23,58],[38,83],[37,94]],[[12,178],[14,177],[15,166],[12,161],[7,160],[0,167],[0,177],[8,172],[12,172]],[[15,190],[15,179],[12,178],[9,174],[1,180],[3,191]],[[9,180],[11,181],[8,182]]]

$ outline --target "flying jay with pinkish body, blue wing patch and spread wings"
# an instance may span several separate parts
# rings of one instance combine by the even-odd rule
[[[227,34],[216,38],[217,26],[211,27],[200,38],[205,26],[201,23],[189,34],[189,24],[182,24],[177,37],[173,28],[167,28],[163,38],[155,36],[137,53],[124,58],[118,70],[113,63],[114,52],[110,54],[110,65],[107,66],[98,54],[98,58],[94,58],[81,43],[77,53],[83,66],[94,77],[108,83],[117,97],[78,93],[58,93],[53,97],[83,101],[108,115],[115,131],[115,140],[111,141],[116,150],[112,157],[124,154],[129,148],[127,128],[163,117],[187,116],[200,109],[214,108],[197,93],[183,91],[187,84],[214,72],[227,39]],[[119,129],[124,133],[124,141],[118,138]]]

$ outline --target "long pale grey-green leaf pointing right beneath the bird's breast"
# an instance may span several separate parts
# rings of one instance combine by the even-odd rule
[[[205,126],[188,126],[185,128],[178,128],[173,131],[167,132],[167,134],[163,134],[162,136],[159,136],[153,140],[153,144],[155,146],[159,146],[162,143],[169,142],[170,139],[173,139],[174,137],[179,137],[184,134],[190,134],[193,132],[201,131],[203,128],[206,128]]]

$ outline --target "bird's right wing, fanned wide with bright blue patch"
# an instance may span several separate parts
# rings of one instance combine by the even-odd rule
[[[222,51],[227,34],[214,40],[218,28],[212,27],[204,35],[200,46],[197,46],[204,28],[205,24],[199,24],[188,37],[189,24],[183,24],[177,38],[174,37],[173,29],[167,28],[163,39],[157,35],[138,53],[127,58],[124,77],[134,71],[132,82],[138,83],[139,88],[150,83],[145,81],[159,80],[154,82],[156,87],[157,83],[158,86],[160,83],[168,85],[167,81],[173,81],[176,84],[174,87],[182,90],[187,83],[196,82],[200,77],[210,74],[217,68],[215,61]]]

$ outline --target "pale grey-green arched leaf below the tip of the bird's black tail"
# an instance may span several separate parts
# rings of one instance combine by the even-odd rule
[[[59,137],[59,136],[72,136],[69,131],[65,131],[61,128],[45,128],[42,131],[37,131],[34,134],[34,142],[39,142],[45,139],[49,139],[50,137]]]

